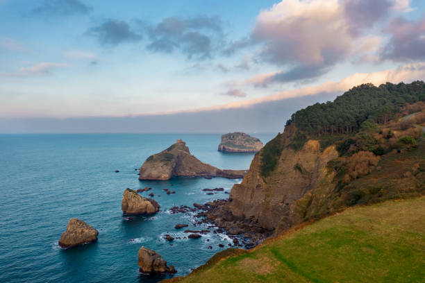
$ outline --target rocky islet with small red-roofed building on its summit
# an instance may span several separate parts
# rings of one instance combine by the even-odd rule
[[[168,180],[172,177],[213,176],[242,178],[244,170],[220,170],[190,154],[188,146],[178,141],[165,151],[151,155],[140,167],[140,180]]]

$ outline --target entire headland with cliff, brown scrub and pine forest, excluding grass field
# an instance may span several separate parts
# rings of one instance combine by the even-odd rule
[[[256,154],[228,201],[207,217],[255,245],[353,205],[423,195],[424,101],[423,82],[360,85],[334,102],[296,112]],[[343,131],[340,118],[347,113],[358,126]],[[317,121],[338,122],[331,131],[312,132],[309,125]]]

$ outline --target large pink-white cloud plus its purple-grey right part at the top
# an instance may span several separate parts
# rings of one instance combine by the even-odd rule
[[[262,10],[250,36],[224,53],[255,46],[257,62],[280,69],[261,81],[263,87],[312,80],[350,58],[378,62],[383,39],[372,28],[409,7],[406,0],[285,0]]]

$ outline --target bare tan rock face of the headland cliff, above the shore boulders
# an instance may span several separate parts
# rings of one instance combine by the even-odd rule
[[[326,175],[326,164],[336,157],[335,146],[321,152],[319,141],[310,140],[300,151],[283,149],[274,171],[263,178],[258,154],[242,183],[233,186],[226,208],[233,216],[274,230],[290,216],[291,203],[319,185]]]

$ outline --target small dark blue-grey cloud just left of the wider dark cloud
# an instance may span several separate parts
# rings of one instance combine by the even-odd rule
[[[138,42],[142,35],[135,33],[127,22],[108,19],[100,26],[94,26],[87,31],[103,45],[115,46],[124,42]]]

